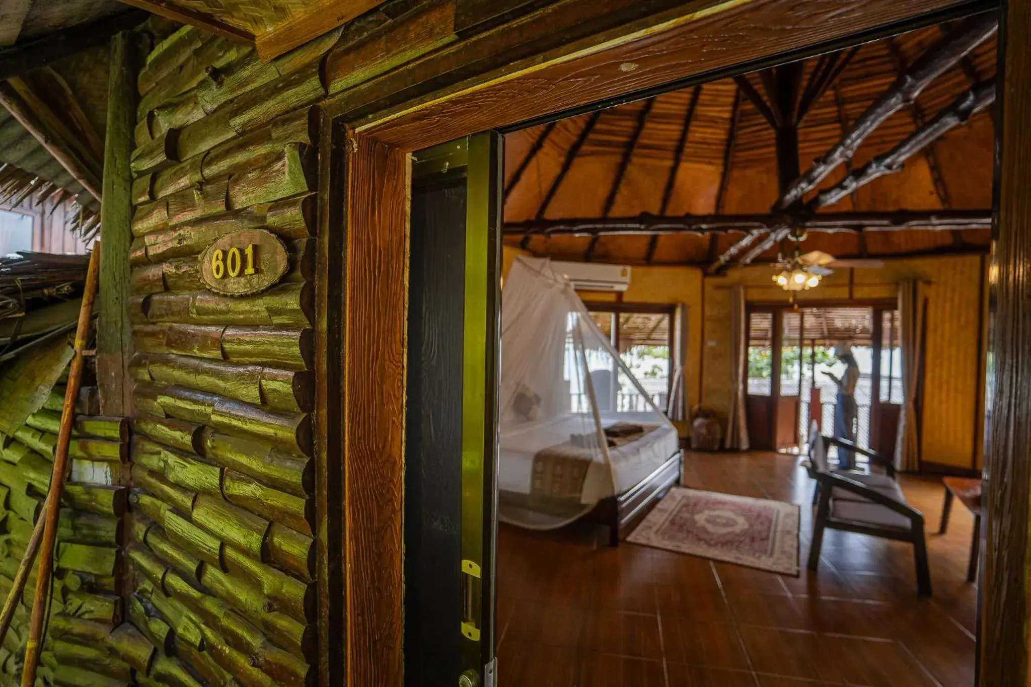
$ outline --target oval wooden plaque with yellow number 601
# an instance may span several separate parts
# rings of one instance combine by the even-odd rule
[[[201,280],[223,296],[259,294],[290,269],[287,247],[264,229],[245,229],[212,241],[200,254]]]

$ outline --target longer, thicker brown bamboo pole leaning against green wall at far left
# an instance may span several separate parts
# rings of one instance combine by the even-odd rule
[[[86,274],[86,288],[82,293],[82,307],[78,313],[78,328],[75,330],[75,350],[68,372],[68,385],[65,388],[65,403],[61,411],[61,432],[58,434],[58,445],[54,455],[54,475],[51,480],[49,493],[46,499],[46,509],[41,520],[43,537],[40,545],[39,568],[36,575],[36,593],[32,603],[32,620],[29,624],[29,641],[25,645],[25,667],[22,673],[22,687],[32,687],[36,682],[36,668],[39,664],[40,640],[43,633],[43,619],[46,617],[47,591],[49,577],[54,564],[54,542],[57,539],[58,516],[61,511],[61,492],[64,490],[64,476],[68,468],[68,444],[71,440],[72,421],[75,415],[75,401],[78,399],[78,387],[82,379],[82,351],[86,349],[90,334],[90,320],[93,316],[93,300],[97,295],[97,281],[100,267],[100,244],[93,247],[90,255],[90,269]]]

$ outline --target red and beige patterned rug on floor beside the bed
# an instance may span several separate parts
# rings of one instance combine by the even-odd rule
[[[674,486],[627,541],[798,577],[798,521],[795,504]]]

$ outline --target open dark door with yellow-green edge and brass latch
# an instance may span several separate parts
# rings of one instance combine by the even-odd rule
[[[405,685],[494,684],[501,138],[414,153]]]

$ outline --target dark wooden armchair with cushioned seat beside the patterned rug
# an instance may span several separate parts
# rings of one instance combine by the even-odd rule
[[[869,456],[871,463],[884,466],[887,473],[832,471],[827,465],[828,444],[859,451]],[[816,422],[809,433],[809,459],[804,465],[809,477],[817,482],[818,489],[809,570],[814,571],[820,564],[824,529],[828,527],[909,542],[917,563],[917,589],[922,595],[930,596],[931,573],[924,540],[924,516],[906,504],[905,495],[895,481],[894,466],[874,451],[821,436]]]

